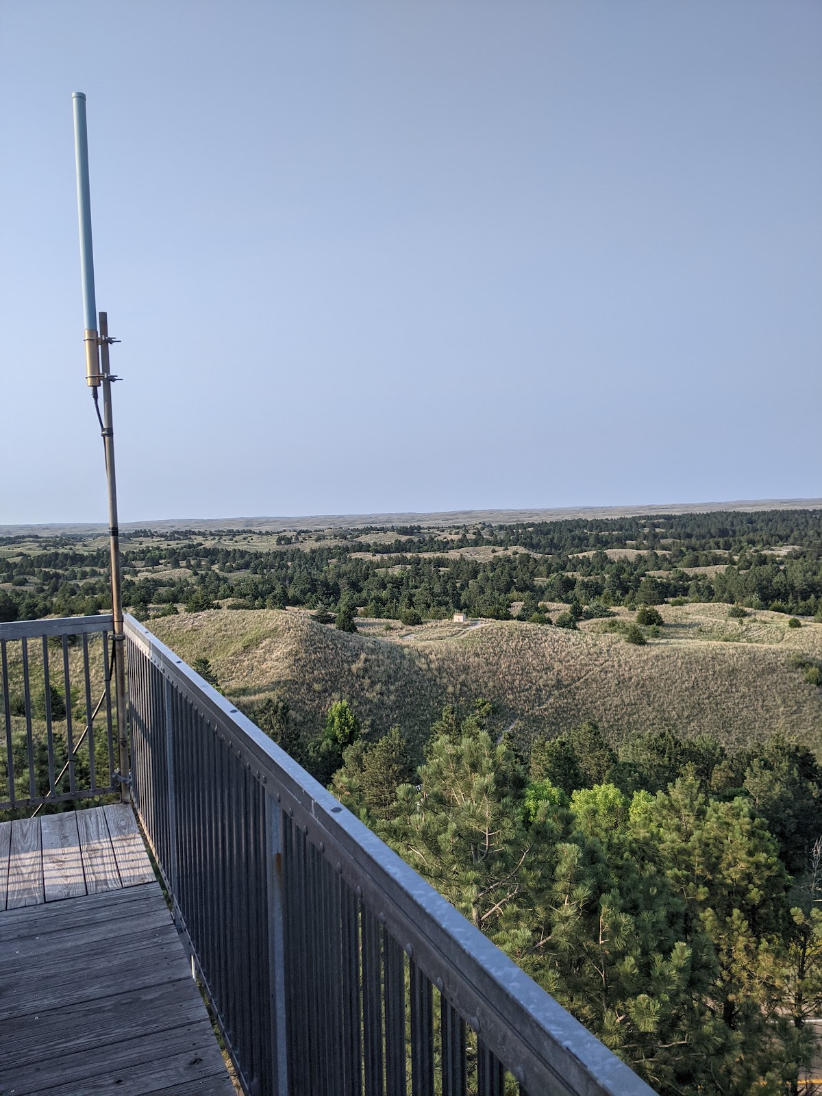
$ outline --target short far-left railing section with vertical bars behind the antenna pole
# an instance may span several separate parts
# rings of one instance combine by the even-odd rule
[[[0,810],[119,791],[111,616],[0,624]]]

